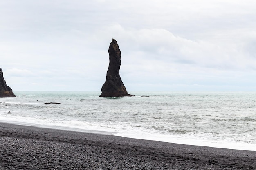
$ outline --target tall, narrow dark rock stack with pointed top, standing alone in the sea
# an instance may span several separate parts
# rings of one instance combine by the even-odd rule
[[[123,97],[132,96],[127,93],[124,83],[119,75],[121,66],[121,51],[116,40],[112,40],[109,49],[109,65],[107,71],[106,82],[101,88],[99,97]]]

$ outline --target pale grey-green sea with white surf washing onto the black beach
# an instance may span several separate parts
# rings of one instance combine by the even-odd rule
[[[256,92],[129,92],[133,97],[99,97],[99,91],[14,93],[18,97],[0,98],[1,122],[256,150]]]

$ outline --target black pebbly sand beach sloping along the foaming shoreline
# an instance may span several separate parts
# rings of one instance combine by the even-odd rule
[[[256,152],[0,123],[1,170],[256,170]]]

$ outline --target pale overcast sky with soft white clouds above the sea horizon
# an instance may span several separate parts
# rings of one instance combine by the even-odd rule
[[[112,38],[127,91],[256,91],[255,0],[1,0],[13,91],[100,91]]]

